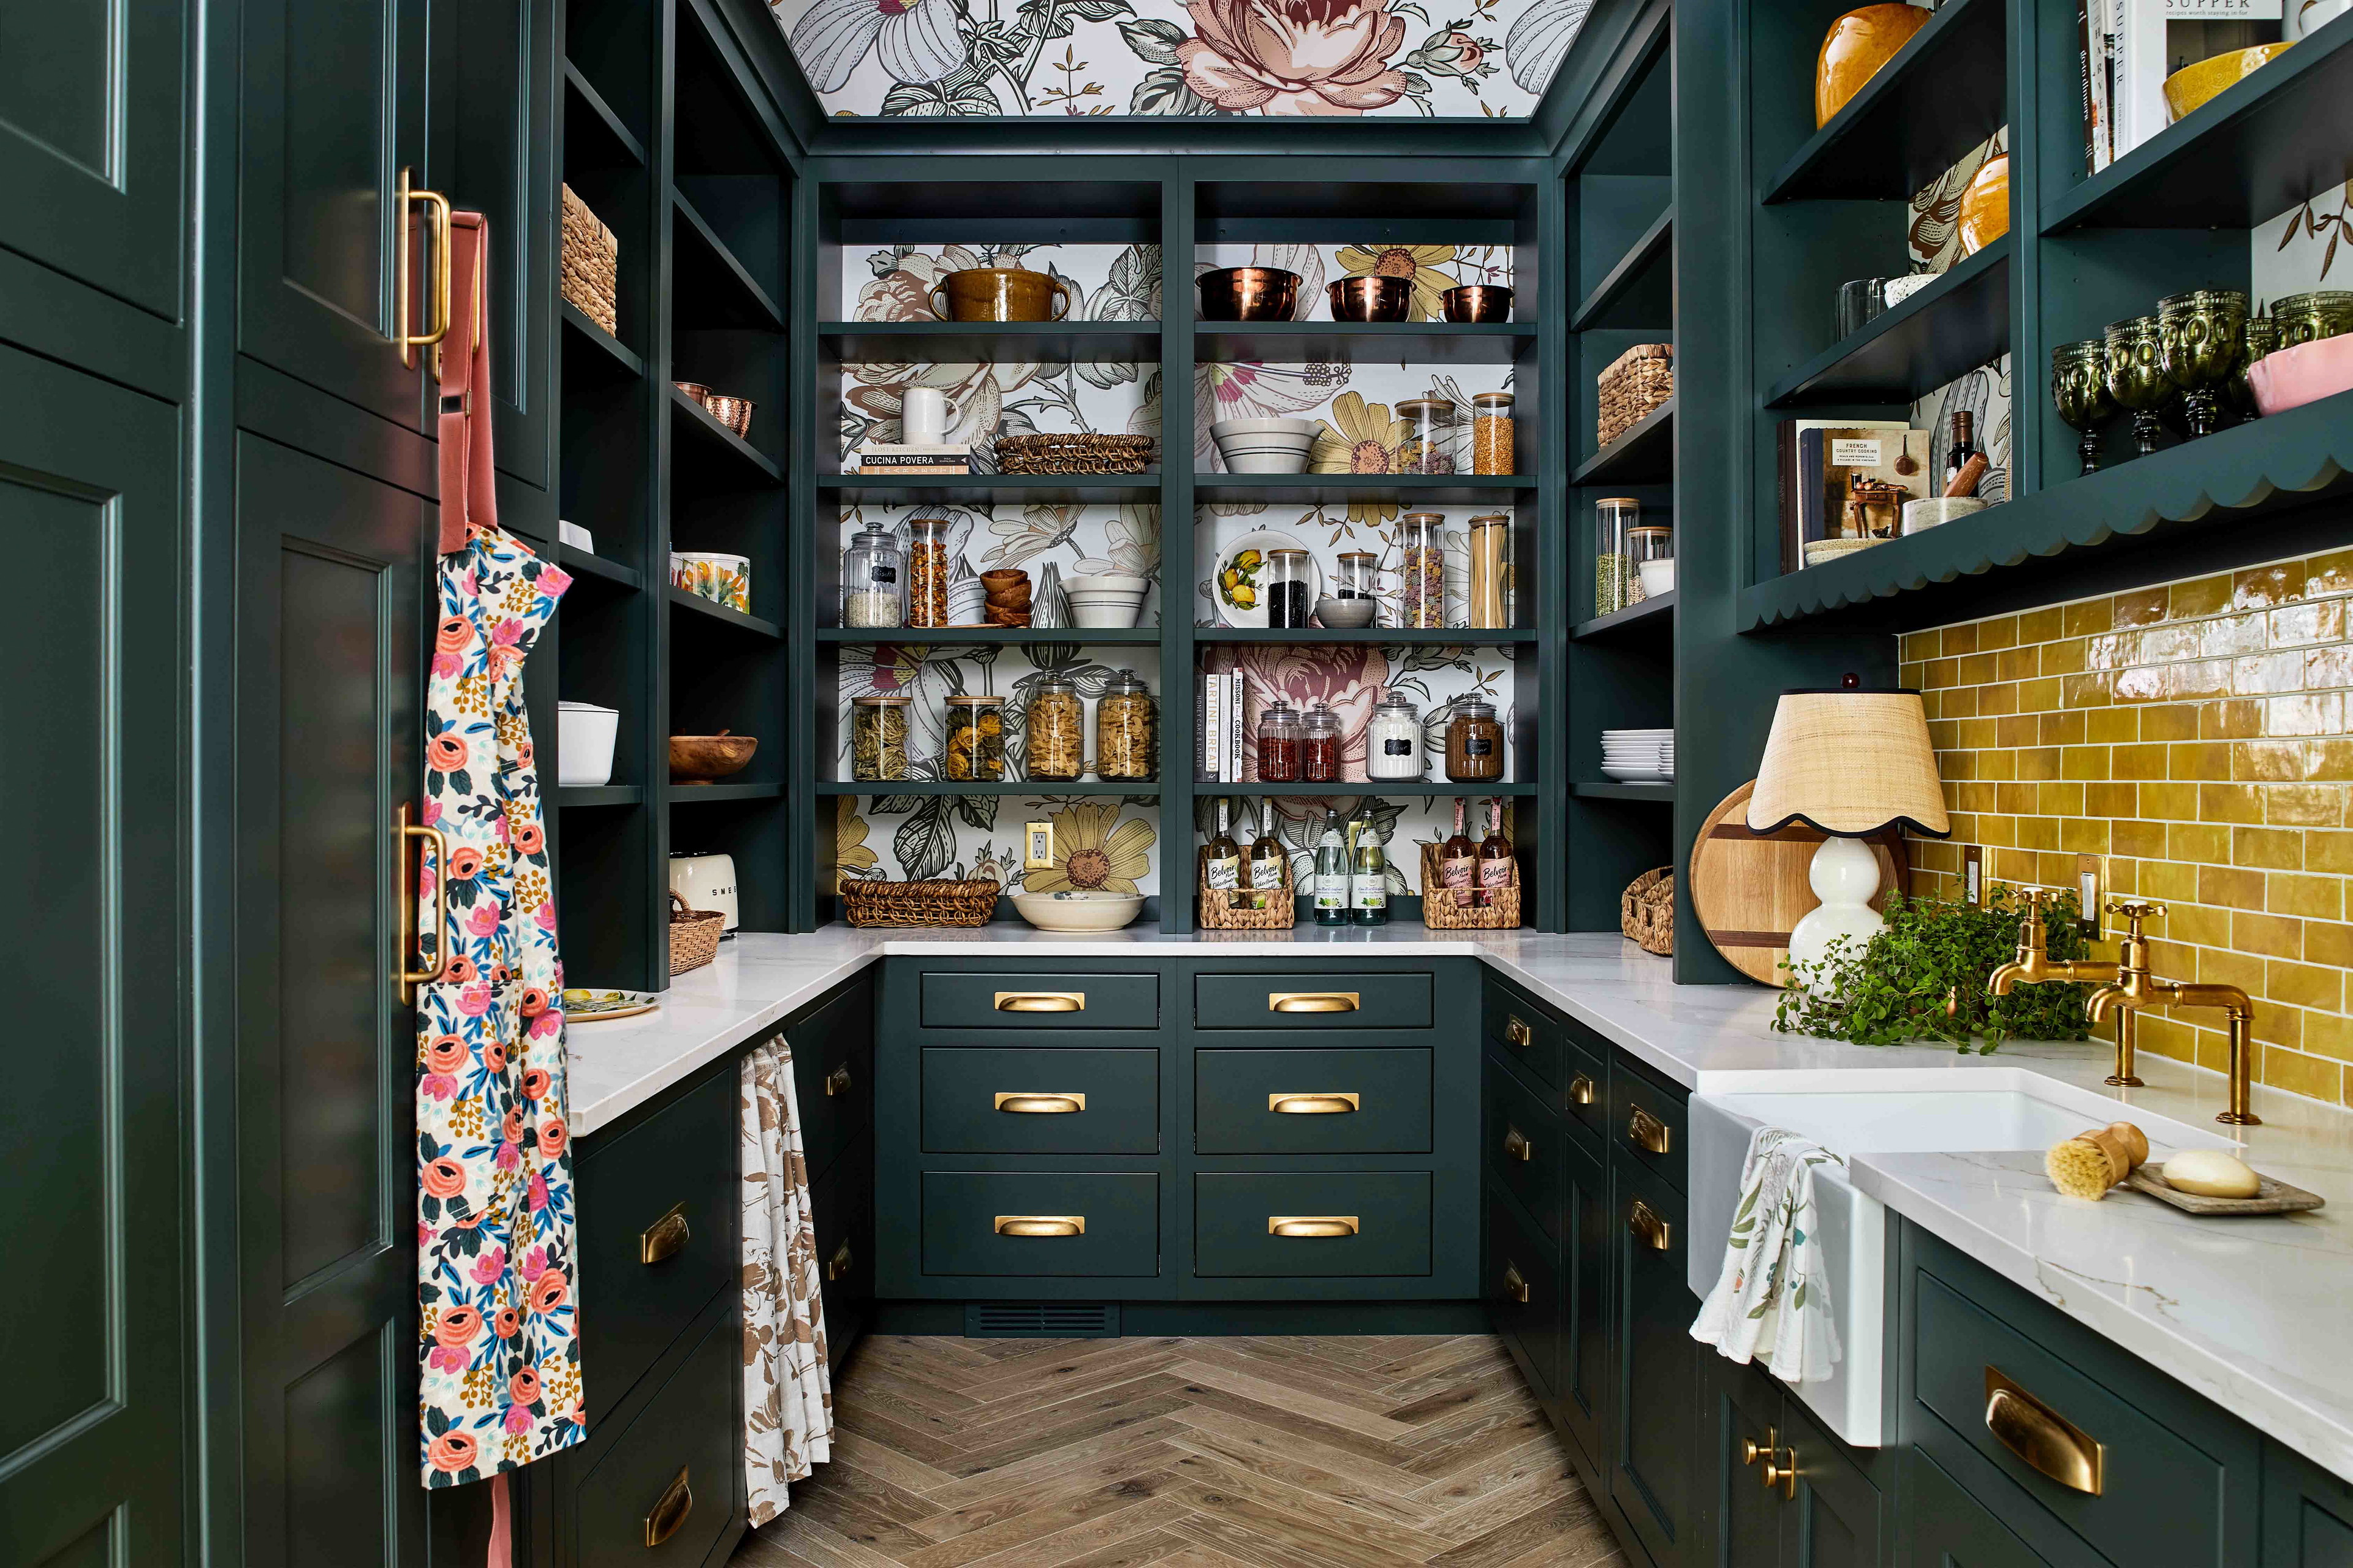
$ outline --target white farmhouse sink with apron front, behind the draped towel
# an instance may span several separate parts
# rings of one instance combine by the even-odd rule
[[[1748,1133],[1779,1126],[1833,1154],[1965,1154],[2047,1150],[2108,1121],[2148,1133],[2153,1159],[2235,1147],[2221,1133],[2153,1117],[2021,1067],[1755,1072],[1692,1095],[1689,1281],[1715,1288],[1739,1201]],[[1842,1356],[1828,1378],[1788,1385],[1857,1448],[1880,1446],[1887,1373],[1887,1208],[1842,1171],[1814,1171],[1817,1234],[1831,1274]],[[1701,1352],[1706,1354],[1706,1352]]]

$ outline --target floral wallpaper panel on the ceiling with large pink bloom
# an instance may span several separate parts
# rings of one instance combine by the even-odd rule
[[[769,0],[833,115],[1527,118],[1593,0]]]

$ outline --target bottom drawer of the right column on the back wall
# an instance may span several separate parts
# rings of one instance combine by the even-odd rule
[[[1341,1234],[1313,1234],[1318,1229]],[[1431,1175],[1426,1171],[1195,1175],[1193,1272],[1205,1279],[1428,1274]]]

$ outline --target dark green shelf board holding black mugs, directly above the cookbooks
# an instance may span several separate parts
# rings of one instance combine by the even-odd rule
[[[2009,235],[1774,383],[1767,409],[1913,402],[2009,348]]]

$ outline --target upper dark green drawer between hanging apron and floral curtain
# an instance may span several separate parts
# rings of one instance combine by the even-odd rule
[[[581,1316],[588,1413],[602,1415],[736,1276],[744,1234],[736,1074],[713,1074],[614,1143],[579,1159],[581,1274],[600,1309]]]

